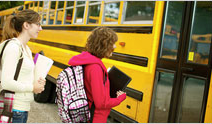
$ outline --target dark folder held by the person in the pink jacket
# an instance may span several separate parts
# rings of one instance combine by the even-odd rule
[[[123,91],[132,80],[131,77],[126,75],[124,72],[113,66],[108,72],[110,80],[110,97],[116,98],[116,92]]]

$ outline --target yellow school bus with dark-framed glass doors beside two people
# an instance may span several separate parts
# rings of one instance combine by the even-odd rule
[[[28,43],[33,54],[42,51],[54,60],[47,76],[52,85],[37,101],[54,99],[50,91],[68,60],[84,50],[95,27],[107,26],[118,42],[113,56],[102,61],[132,78],[126,100],[111,110],[108,122],[212,123],[211,1],[26,1],[23,6],[41,15],[43,31]],[[9,14],[0,11],[1,28]]]

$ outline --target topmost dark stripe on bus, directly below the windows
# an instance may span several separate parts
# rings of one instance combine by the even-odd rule
[[[48,30],[73,30],[73,31],[92,31],[98,26],[42,26]],[[151,34],[152,26],[107,26],[117,33],[143,33]]]

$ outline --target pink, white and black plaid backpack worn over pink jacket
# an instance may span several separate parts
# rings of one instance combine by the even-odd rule
[[[90,110],[83,82],[83,67],[70,66],[57,78],[58,115],[64,123],[90,121]]]

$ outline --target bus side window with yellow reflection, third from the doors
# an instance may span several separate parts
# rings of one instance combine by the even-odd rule
[[[101,2],[90,1],[88,10],[88,24],[98,24],[99,23],[99,13],[101,8]]]

